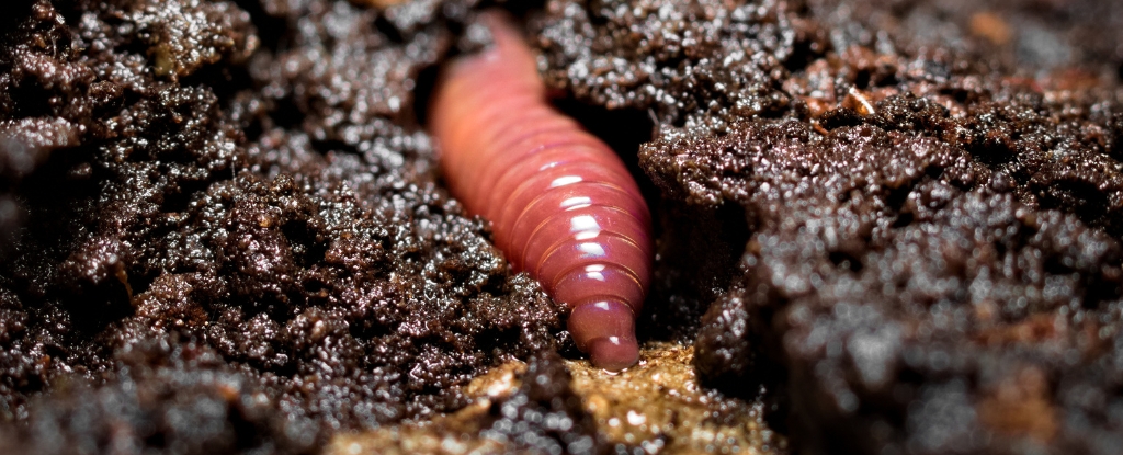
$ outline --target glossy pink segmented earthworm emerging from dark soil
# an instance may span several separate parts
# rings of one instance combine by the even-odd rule
[[[594,365],[631,366],[654,249],[647,204],[620,157],[549,104],[513,26],[483,19],[494,45],[446,69],[430,109],[449,190],[566,307]]]

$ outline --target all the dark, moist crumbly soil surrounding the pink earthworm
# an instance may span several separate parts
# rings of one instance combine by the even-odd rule
[[[497,451],[642,452],[441,186],[490,8],[645,188],[641,337],[792,452],[1123,446],[1123,3],[9,0],[0,447],[318,453],[531,360]]]

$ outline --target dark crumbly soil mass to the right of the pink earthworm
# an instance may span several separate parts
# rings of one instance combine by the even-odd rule
[[[695,365],[764,388],[797,452],[1115,453],[1123,8],[906,3],[592,2],[533,24],[553,84],[658,119],[639,164],[664,224],[711,226],[660,248],[747,239]],[[705,311],[684,257],[729,261],[660,257],[650,307]]]

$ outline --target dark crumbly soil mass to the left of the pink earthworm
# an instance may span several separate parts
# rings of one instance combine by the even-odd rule
[[[311,453],[554,351],[413,111],[468,7],[10,7],[0,445]]]

